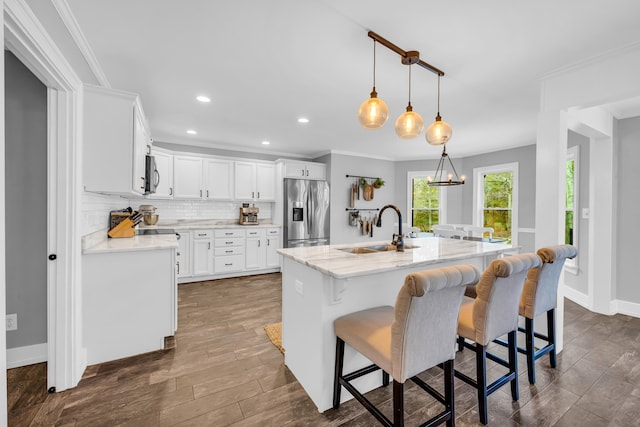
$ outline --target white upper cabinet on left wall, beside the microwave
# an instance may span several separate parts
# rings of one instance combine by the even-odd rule
[[[142,194],[151,138],[138,96],[85,85],[82,109],[85,190]]]

